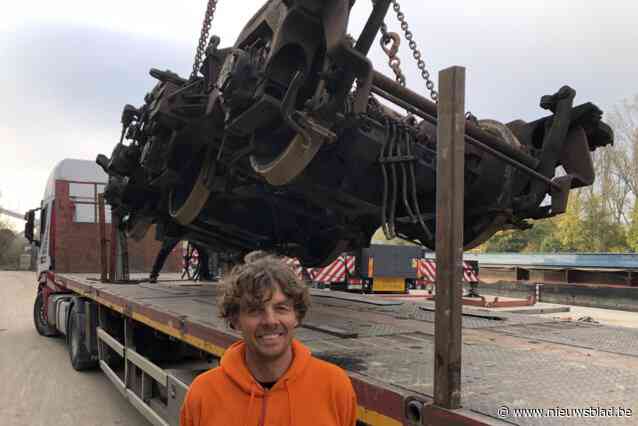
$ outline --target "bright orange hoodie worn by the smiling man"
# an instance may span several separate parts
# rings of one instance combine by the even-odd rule
[[[245,345],[228,348],[220,366],[199,375],[182,406],[180,426],[354,426],[350,378],[293,340],[290,368],[264,390],[244,361]]]

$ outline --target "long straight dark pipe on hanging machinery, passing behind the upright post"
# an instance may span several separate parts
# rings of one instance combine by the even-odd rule
[[[412,90],[402,87],[392,79],[386,77],[378,71],[373,73],[373,86],[380,88],[381,90],[403,99],[409,104],[414,105],[417,109],[424,113],[437,117],[437,106],[434,102],[426,99]],[[374,89],[373,89],[374,91]],[[439,101],[440,102],[440,101]],[[465,118],[464,118],[465,120]],[[506,156],[513,158],[514,160],[522,163],[523,165],[536,169],[539,161],[526,153],[512,148],[510,145],[502,141],[499,137],[483,131],[480,127],[470,121],[465,122],[467,135],[478,140],[478,142],[486,145],[493,150],[496,150]]]

